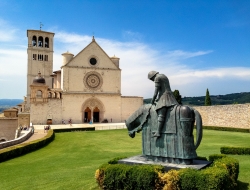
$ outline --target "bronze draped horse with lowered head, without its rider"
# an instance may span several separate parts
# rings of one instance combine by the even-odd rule
[[[159,138],[153,138],[157,130],[155,104],[142,105],[125,124],[129,136],[142,131],[142,153],[147,160],[174,164],[192,164],[197,158],[196,149],[202,139],[202,119],[198,111],[189,107],[174,105],[167,113]],[[193,129],[196,122],[196,143]]]

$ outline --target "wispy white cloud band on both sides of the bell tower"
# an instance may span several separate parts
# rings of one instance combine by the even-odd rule
[[[54,70],[60,69],[62,53],[69,51],[76,55],[91,40],[92,36],[55,31]],[[205,95],[206,88],[209,88],[210,94],[215,95],[249,91],[249,67],[195,69],[183,63],[189,58],[210,54],[212,50],[163,51],[138,41],[120,42],[103,38],[96,38],[96,42],[109,56],[116,55],[120,58],[122,95],[125,96],[150,98],[153,95],[154,83],[147,79],[147,74],[151,70],[167,75],[172,90],[178,89],[182,96]],[[0,84],[5,88],[16,88],[16,94],[13,96],[18,98],[25,95],[26,90],[27,47],[26,42],[21,46],[14,45],[0,46]],[[22,83],[15,82],[20,79]],[[1,94],[0,98],[6,96]]]

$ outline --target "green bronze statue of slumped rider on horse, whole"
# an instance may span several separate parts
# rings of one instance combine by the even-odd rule
[[[179,105],[164,74],[151,71],[155,82],[151,104],[142,105],[125,124],[129,136],[142,131],[142,153],[155,162],[191,164],[202,139],[202,119],[198,111]],[[193,129],[196,122],[196,143]]]

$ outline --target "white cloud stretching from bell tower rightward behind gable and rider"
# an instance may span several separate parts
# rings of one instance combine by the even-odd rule
[[[92,40],[91,36],[60,32],[57,38],[61,42],[59,49],[64,48],[63,52],[67,49],[75,55]],[[109,56],[116,55],[120,58],[122,94],[125,96],[151,97],[154,91],[154,84],[147,79],[147,74],[151,70],[157,70],[166,74],[170,79],[172,90],[179,89],[184,96],[203,95],[208,87],[211,88],[212,92],[215,89],[215,94],[232,93],[237,88],[230,86],[228,81],[231,81],[231,83],[232,81],[238,81],[240,84],[245,84],[249,83],[250,80],[250,68],[191,69],[188,65],[182,63],[183,60],[192,57],[210,54],[213,52],[212,50],[166,50],[162,54],[162,50],[159,51],[137,41],[119,42],[96,38],[96,42]],[[60,52],[60,54],[63,52]],[[60,60],[60,64],[58,64],[60,67],[61,55],[56,54],[54,57],[58,61]],[[244,91],[244,86],[237,85],[237,87],[240,86],[241,88],[238,88],[238,90],[243,89]],[[249,90],[246,88],[245,91]]]

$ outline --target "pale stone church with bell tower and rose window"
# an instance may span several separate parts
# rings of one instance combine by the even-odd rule
[[[143,98],[121,95],[118,57],[109,57],[93,37],[77,55],[62,54],[53,71],[54,33],[27,30],[27,96],[19,107],[22,120],[32,124],[124,122]],[[23,117],[23,118],[22,118]]]

